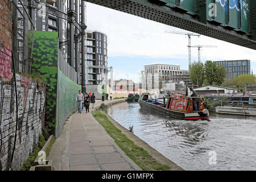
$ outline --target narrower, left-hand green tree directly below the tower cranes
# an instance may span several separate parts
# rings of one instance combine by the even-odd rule
[[[204,64],[203,63],[192,63],[190,80],[193,84],[197,84],[199,87],[204,83]]]

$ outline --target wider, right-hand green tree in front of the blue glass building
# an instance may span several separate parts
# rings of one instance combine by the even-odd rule
[[[220,86],[226,77],[226,69],[222,66],[217,67],[216,63],[206,61],[204,65],[205,80],[210,85]]]

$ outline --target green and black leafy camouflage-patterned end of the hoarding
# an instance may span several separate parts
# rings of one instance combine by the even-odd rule
[[[51,134],[56,123],[58,48],[57,32],[35,31],[31,72],[39,73],[47,84],[46,129]]]

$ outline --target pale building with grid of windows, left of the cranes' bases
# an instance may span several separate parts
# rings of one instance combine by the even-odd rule
[[[179,65],[152,64],[145,65],[142,71],[142,86],[146,90],[157,90],[163,82],[184,82],[192,85],[189,81],[189,71],[181,70]],[[162,84],[161,84],[162,83]]]

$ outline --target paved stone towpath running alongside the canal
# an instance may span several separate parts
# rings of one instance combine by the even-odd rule
[[[118,100],[104,101],[105,104]],[[102,101],[96,100],[98,106]],[[92,105],[90,105],[90,111]],[[48,156],[55,171],[141,171],[93,118],[91,112],[68,119]]]

